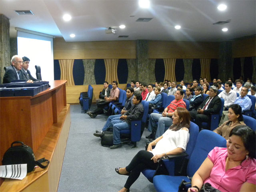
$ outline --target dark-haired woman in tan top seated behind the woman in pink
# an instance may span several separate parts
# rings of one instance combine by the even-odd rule
[[[230,108],[228,108],[228,121],[225,121],[213,132],[228,140],[231,130],[238,125],[245,125],[244,118],[242,116],[242,108],[238,104],[232,104],[230,105]]]

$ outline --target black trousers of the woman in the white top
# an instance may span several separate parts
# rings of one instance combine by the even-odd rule
[[[145,168],[156,170],[158,163],[154,163],[153,160],[151,160],[153,156],[154,155],[151,152],[146,150],[141,150],[134,156],[130,164],[126,166],[126,170],[130,172],[130,175],[128,176],[128,179],[124,185],[126,189],[130,188],[130,186],[140,176],[140,172],[142,172],[142,170]]]

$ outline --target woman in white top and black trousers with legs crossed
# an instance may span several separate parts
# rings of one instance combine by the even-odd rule
[[[172,126],[162,136],[148,144],[147,150],[139,151],[128,166],[115,169],[118,174],[128,175],[124,188],[119,192],[129,191],[130,186],[137,180],[140,172],[145,168],[156,170],[160,158],[180,154],[186,150],[189,140],[189,113],[186,109],[178,107],[174,111],[172,118]],[[156,147],[152,149],[152,146]]]

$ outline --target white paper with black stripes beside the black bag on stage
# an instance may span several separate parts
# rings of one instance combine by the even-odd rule
[[[24,179],[27,175],[27,164],[2,165],[0,177],[11,179]]]

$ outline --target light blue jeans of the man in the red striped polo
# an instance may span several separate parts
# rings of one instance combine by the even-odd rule
[[[158,122],[158,125],[156,123]],[[165,131],[165,127],[169,127],[172,125],[172,118],[170,117],[163,117],[162,114],[158,113],[152,113],[149,116],[149,122],[148,122],[148,130],[152,131],[153,128],[156,128],[156,138],[162,136]]]

